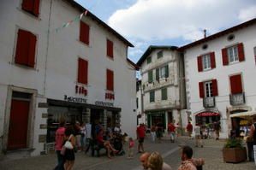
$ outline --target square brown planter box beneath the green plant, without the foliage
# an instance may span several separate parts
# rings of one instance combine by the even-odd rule
[[[238,163],[247,160],[247,149],[243,148],[223,148],[223,161]]]

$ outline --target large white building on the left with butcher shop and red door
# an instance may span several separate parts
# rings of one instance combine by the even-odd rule
[[[73,0],[5,0],[0,9],[2,154],[45,154],[61,117],[135,136],[133,44]]]

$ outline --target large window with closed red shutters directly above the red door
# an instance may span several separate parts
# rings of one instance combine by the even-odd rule
[[[18,31],[15,63],[34,67],[37,37],[32,32]]]

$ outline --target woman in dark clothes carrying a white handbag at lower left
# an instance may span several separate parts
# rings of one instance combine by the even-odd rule
[[[74,129],[71,126],[65,131],[65,142],[63,147],[65,148],[65,170],[71,170],[74,166],[74,146],[75,146],[75,138],[74,138]]]

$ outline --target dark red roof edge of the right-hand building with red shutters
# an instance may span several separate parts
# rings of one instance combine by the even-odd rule
[[[255,23],[256,23],[256,18],[253,18],[253,20],[243,22],[240,25],[230,27],[229,29],[223,30],[222,32],[217,32],[217,33],[212,34],[211,36],[208,36],[206,38],[199,39],[198,41],[195,41],[191,44],[184,45],[184,46],[180,47],[179,50],[186,50],[186,49],[191,48],[195,45],[203,44],[203,43],[205,43],[207,41],[210,41],[214,38],[222,37],[223,35],[229,34],[231,32],[235,32],[235,31],[240,30],[244,27],[251,26]]]

